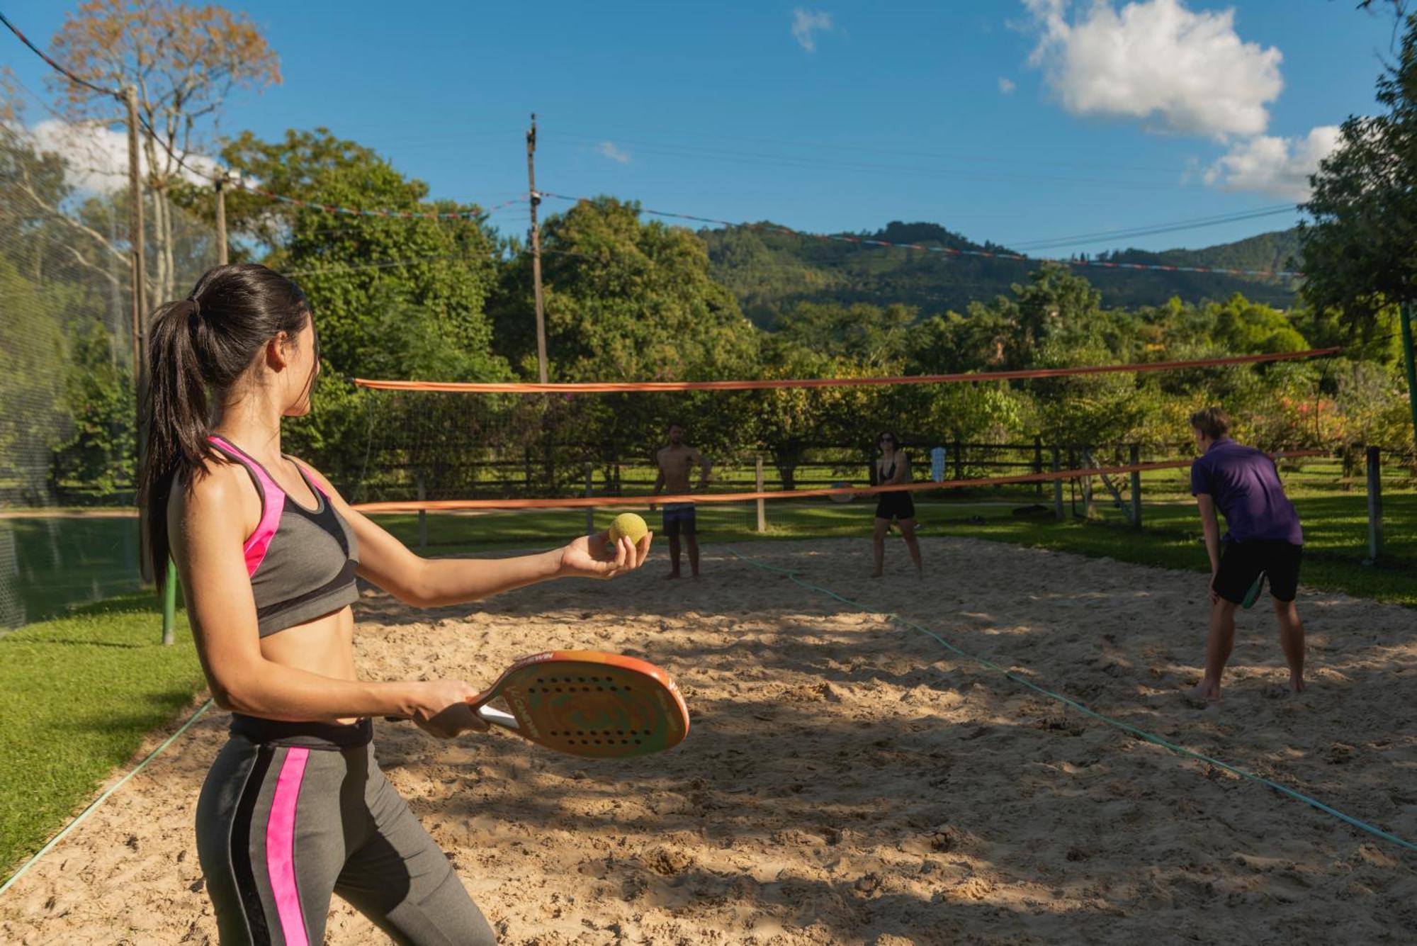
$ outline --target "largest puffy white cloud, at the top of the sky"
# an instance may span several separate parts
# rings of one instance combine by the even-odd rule
[[[1261,135],[1284,88],[1282,55],[1246,42],[1234,10],[1187,10],[1183,0],[1023,0],[1040,33],[1040,67],[1074,115],[1135,118],[1161,132],[1227,139]]]

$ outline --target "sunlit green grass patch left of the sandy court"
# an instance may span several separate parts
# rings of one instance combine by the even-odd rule
[[[201,688],[183,612],[160,639],[150,593],[0,637],[0,882]]]

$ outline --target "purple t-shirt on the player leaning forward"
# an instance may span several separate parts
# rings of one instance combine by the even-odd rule
[[[1304,544],[1299,514],[1284,494],[1274,460],[1253,446],[1241,446],[1230,438],[1212,443],[1206,455],[1190,465],[1190,494],[1197,493],[1209,493],[1226,517],[1227,542]]]

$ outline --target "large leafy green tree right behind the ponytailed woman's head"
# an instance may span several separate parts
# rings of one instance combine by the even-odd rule
[[[323,367],[319,409],[290,425],[295,450],[349,484],[364,469],[371,438],[425,429],[414,415],[427,405],[356,389],[350,377],[497,381],[510,375],[506,361],[492,351],[486,313],[497,278],[499,238],[476,207],[429,201],[425,183],[324,129],[292,130],[278,142],[244,133],[222,149],[222,159],[237,173],[300,200],[425,214],[330,214],[258,194],[231,194],[232,232],[245,235],[255,249],[266,246],[262,262],[295,279],[315,310]],[[439,416],[451,418],[446,411],[456,406],[444,411]],[[401,463],[407,457],[385,459]]]

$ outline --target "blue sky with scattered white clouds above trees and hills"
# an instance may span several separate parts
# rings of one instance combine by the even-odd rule
[[[47,47],[75,6],[3,8]],[[523,193],[536,110],[543,190],[812,231],[922,220],[1039,255],[1292,224],[1070,239],[1294,204],[1332,127],[1373,108],[1391,38],[1350,0],[227,6],[285,81],[238,93],[222,130],[323,125],[438,197]],[[0,64],[44,88],[7,35]]]

